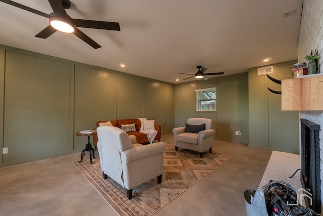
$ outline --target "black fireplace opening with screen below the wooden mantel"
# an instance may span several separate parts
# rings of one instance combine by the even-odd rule
[[[310,195],[304,196],[306,207],[321,213],[319,128],[307,119],[301,121],[301,183]]]

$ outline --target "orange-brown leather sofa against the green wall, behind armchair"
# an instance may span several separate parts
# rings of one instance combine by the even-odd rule
[[[99,123],[102,122],[107,122],[109,120],[106,121],[97,121],[96,122],[96,127],[99,127]],[[119,120],[110,120],[112,125],[115,127],[119,127],[121,128],[121,124],[133,124],[135,123],[136,126],[136,132],[127,132],[128,135],[134,135],[137,138],[137,143],[143,144],[143,143],[149,143],[147,135],[144,133],[139,132],[140,127],[141,127],[141,121],[138,118],[128,118],[128,119],[119,119]],[[157,135],[154,138],[154,140],[158,140],[158,142],[160,142],[160,132],[161,132],[161,127],[160,125],[156,125],[155,124],[155,130],[157,131]],[[93,136],[93,146],[96,149],[96,143],[97,143],[98,139],[97,139],[97,135]]]

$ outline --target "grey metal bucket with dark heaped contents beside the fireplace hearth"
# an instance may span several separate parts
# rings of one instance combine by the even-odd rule
[[[257,194],[261,194],[261,196]],[[295,189],[286,182],[271,181],[262,188],[258,188],[257,191],[246,190],[244,196],[249,216],[266,216],[263,213],[264,209],[259,209],[260,206],[260,208],[264,208],[265,206],[267,215],[269,216],[318,215],[313,210],[298,204],[298,196]],[[253,203],[254,206],[252,206]],[[262,204],[259,205],[259,203]],[[257,211],[262,213],[257,214]]]

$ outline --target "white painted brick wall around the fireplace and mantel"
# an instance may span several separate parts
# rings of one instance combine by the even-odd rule
[[[319,59],[319,71],[323,73],[323,2],[321,0],[304,0],[302,21],[298,40],[298,62],[304,62],[304,56],[309,55],[311,50],[318,50],[322,56]],[[317,90],[317,91],[323,91]],[[299,118],[305,118],[320,125],[320,179],[323,179],[323,111],[300,111]],[[323,204],[323,184],[321,182],[321,203]],[[321,209],[322,209],[321,205]]]

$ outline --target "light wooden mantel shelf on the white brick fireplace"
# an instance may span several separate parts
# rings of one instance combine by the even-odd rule
[[[282,110],[323,110],[323,74],[282,80]]]

